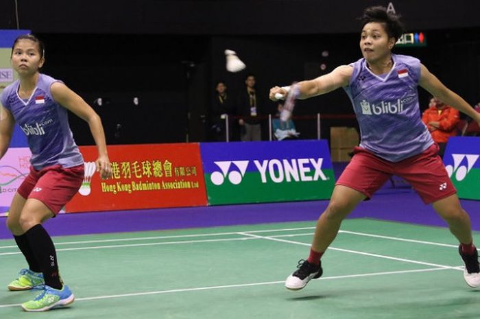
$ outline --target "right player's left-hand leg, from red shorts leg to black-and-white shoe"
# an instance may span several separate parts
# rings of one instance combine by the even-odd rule
[[[385,183],[390,176],[389,165],[387,161],[365,150],[356,150],[352,161],[337,181],[326,210],[317,221],[309,257],[300,260],[298,270],[287,277],[287,289],[300,290],[311,279],[322,276],[320,258],[337,236],[341,222],[359,202],[372,197]]]

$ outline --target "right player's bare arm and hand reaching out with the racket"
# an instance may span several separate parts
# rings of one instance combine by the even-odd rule
[[[298,99],[308,99],[316,95],[322,95],[331,91],[347,86],[352,77],[353,68],[348,65],[341,65],[328,73],[313,80],[305,80],[298,82],[299,93]],[[269,98],[276,101],[276,93],[281,95],[287,94],[287,88],[274,86],[270,89]]]

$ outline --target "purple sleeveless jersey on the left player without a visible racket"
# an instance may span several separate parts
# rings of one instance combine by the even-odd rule
[[[67,168],[84,162],[73,141],[68,111],[51,96],[50,86],[53,82],[58,80],[40,74],[34,93],[27,101],[17,93],[19,80],[7,86],[1,95],[1,104],[12,113],[27,135],[32,151],[30,163],[34,169],[58,164]]]

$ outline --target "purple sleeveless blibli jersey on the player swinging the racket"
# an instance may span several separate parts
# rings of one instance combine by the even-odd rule
[[[391,162],[427,150],[431,134],[420,117],[418,81],[420,60],[392,54],[394,66],[386,75],[375,75],[364,58],[353,67],[344,87],[361,131],[360,147]]]

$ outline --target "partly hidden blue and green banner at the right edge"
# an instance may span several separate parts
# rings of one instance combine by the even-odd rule
[[[480,200],[480,137],[448,139],[444,164],[458,197]]]

